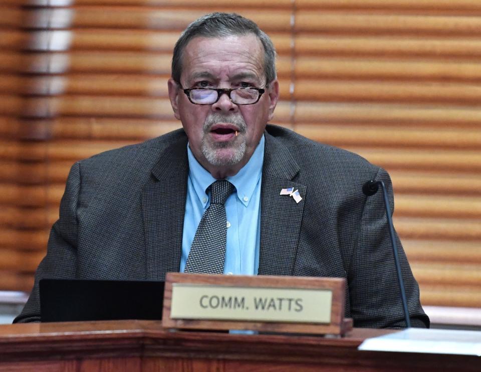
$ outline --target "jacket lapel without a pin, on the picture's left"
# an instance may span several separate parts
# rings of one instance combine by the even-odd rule
[[[147,279],[164,280],[179,271],[187,193],[187,138],[182,137],[159,157],[152,183],[142,190],[147,250]]]

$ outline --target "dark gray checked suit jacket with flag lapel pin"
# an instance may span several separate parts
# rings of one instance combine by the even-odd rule
[[[350,152],[267,127],[261,187],[260,275],[345,277],[355,326],[402,326],[381,193],[361,187],[387,173]],[[182,130],[76,163],[48,252],[16,321],[38,321],[41,278],[163,280],[180,265],[188,174]],[[303,200],[280,196],[295,187]],[[429,320],[400,248],[413,326]]]

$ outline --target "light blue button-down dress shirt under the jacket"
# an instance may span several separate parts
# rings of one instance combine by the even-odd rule
[[[210,204],[207,188],[216,181],[195,159],[187,145],[189,175],[185,201],[180,272],[184,271],[197,226]],[[264,162],[264,136],[249,162],[226,180],[235,186],[225,202],[227,245],[224,274],[257,275],[261,241],[261,174]]]

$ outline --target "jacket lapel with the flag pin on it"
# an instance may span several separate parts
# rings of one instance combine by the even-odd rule
[[[292,275],[301,228],[306,186],[293,181],[299,165],[288,148],[266,133],[261,185],[260,275]],[[281,189],[294,187],[303,198],[296,203]]]

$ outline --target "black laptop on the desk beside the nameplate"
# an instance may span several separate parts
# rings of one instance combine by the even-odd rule
[[[43,322],[162,318],[163,281],[40,280]]]

